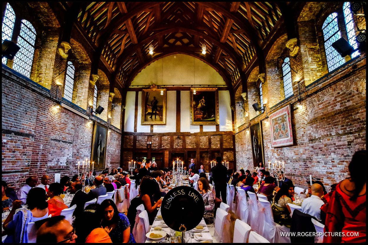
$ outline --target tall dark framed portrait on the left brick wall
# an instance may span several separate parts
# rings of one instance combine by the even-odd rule
[[[94,163],[95,170],[102,170],[105,168],[106,142],[107,127],[95,122],[95,128],[93,129],[91,153],[91,161],[93,161]]]

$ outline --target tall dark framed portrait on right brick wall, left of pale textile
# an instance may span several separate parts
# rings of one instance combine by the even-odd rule
[[[251,131],[251,142],[252,142],[252,156],[253,156],[253,166],[259,166],[262,162],[265,166],[265,158],[263,153],[263,139],[262,139],[262,129],[261,123],[254,124],[250,127]]]

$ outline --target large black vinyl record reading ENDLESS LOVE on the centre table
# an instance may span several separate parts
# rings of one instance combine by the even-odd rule
[[[171,189],[161,204],[163,221],[175,231],[192,230],[201,222],[204,212],[201,194],[188,186]]]

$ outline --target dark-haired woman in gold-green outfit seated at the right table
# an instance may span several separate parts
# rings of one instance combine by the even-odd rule
[[[290,186],[287,183],[284,183],[280,190],[276,193],[275,198],[273,199],[272,213],[273,220],[275,223],[280,225],[284,225],[290,228],[291,217],[290,217],[290,207],[286,205],[286,203],[292,203],[291,198],[294,195],[294,186]]]

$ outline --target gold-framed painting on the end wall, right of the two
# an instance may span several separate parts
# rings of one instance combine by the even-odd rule
[[[219,91],[217,88],[190,89],[191,124],[219,124]]]

